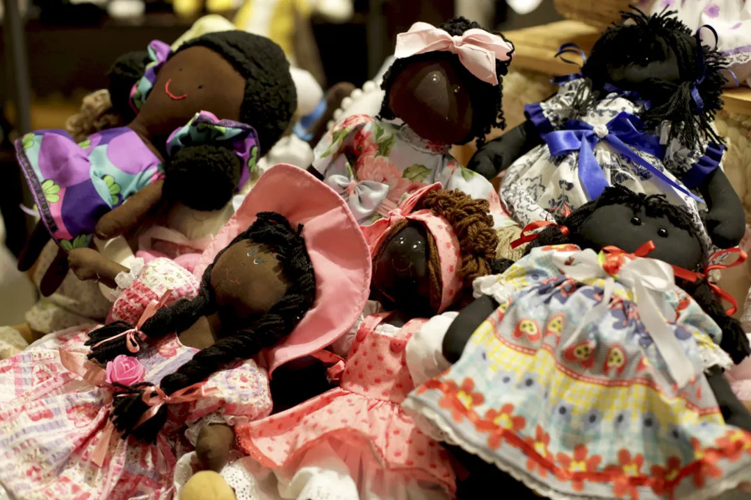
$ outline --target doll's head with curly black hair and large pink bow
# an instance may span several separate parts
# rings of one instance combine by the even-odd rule
[[[484,143],[505,127],[501,78],[514,46],[463,17],[440,28],[412,25],[397,40],[386,72],[381,117],[401,118],[421,137],[442,144]]]

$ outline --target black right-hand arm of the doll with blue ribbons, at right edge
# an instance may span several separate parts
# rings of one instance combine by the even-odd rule
[[[698,189],[709,209],[704,224],[712,243],[720,248],[739,244],[746,232],[745,212],[725,172],[719,167],[714,169]]]

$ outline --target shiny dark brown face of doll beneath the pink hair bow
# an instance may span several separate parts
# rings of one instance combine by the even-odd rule
[[[391,85],[389,107],[423,139],[457,144],[472,131],[472,102],[457,64],[415,62]]]

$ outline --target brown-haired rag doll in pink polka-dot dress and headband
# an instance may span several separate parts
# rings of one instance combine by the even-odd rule
[[[433,184],[363,229],[373,292],[396,309],[355,325],[347,360],[330,370],[340,387],[237,427],[249,457],[221,474],[238,500],[454,496],[447,452],[400,409],[413,388],[405,347],[421,317],[459,304],[490,273],[497,240],[487,211],[486,200]]]

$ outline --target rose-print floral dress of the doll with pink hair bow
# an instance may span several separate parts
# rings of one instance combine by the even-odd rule
[[[496,226],[508,219],[490,181],[460,166],[448,146],[422,139],[406,124],[349,116],[335,124],[313,152],[313,167],[347,200],[361,226],[384,217],[406,194],[436,182],[487,199]]]

